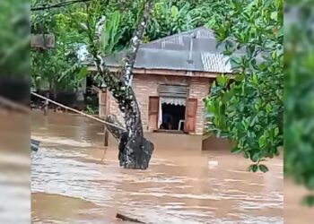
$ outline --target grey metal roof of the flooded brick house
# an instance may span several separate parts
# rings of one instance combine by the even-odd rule
[[[192,34],[195,35],[194,39]],[[135,68],[231,73],[229,57],[222,55],[223,46],[216,46],[212,30],[204,27],[188,30],[142,44],[136,56]],[[105,63],[109,66],[121,65],[124,56],[126,52],[108,56]]]

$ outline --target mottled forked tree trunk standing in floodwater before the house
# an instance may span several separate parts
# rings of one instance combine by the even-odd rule
[[[131,41],[131,51],[126,56],[122,75],[117,77],[109,72],[97,51],[93,52],[95,65],[103,78],[107,90],[117,100],[120,111],[124,114],[126,132],[119,133],[109,128],[109,132],[119,138],[120,166],[124,168],[146,169],[153,153],[153,142],[144,138],[141,112],[138,107],[135,92],[132,89],[133,67],[141,39],[144,36],[148,16],[153,0],[146,0],[142,19]],[[97,29],[96,29],[97,30]],[[95,48],[94,48],[95,49]],[[118,134],[118,135],[117,135]]]

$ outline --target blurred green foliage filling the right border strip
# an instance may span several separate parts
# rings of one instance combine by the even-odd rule
[[[314,190],[313,4],[292,4],[284,32],[284,174]],[[288,7],[288,5],[287,5]],[[289,13],[296,10],[297,18]],[[313,196],[305,199],[313,205]]]

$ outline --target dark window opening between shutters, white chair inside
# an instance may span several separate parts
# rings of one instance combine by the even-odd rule
[[[183,131],[186,107],[163,103],[161,108],[162,122],[160,129]]]

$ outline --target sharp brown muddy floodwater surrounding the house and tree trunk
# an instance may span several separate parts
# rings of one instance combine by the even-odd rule
[[[148,170],[126,170],[89,119],[35,113],[31,127],[42,142],[31,155],[33,223],[126,223],[117,212],[146,223],[283,223],[282,159],[251,174],[229,151],[165,148]]]

